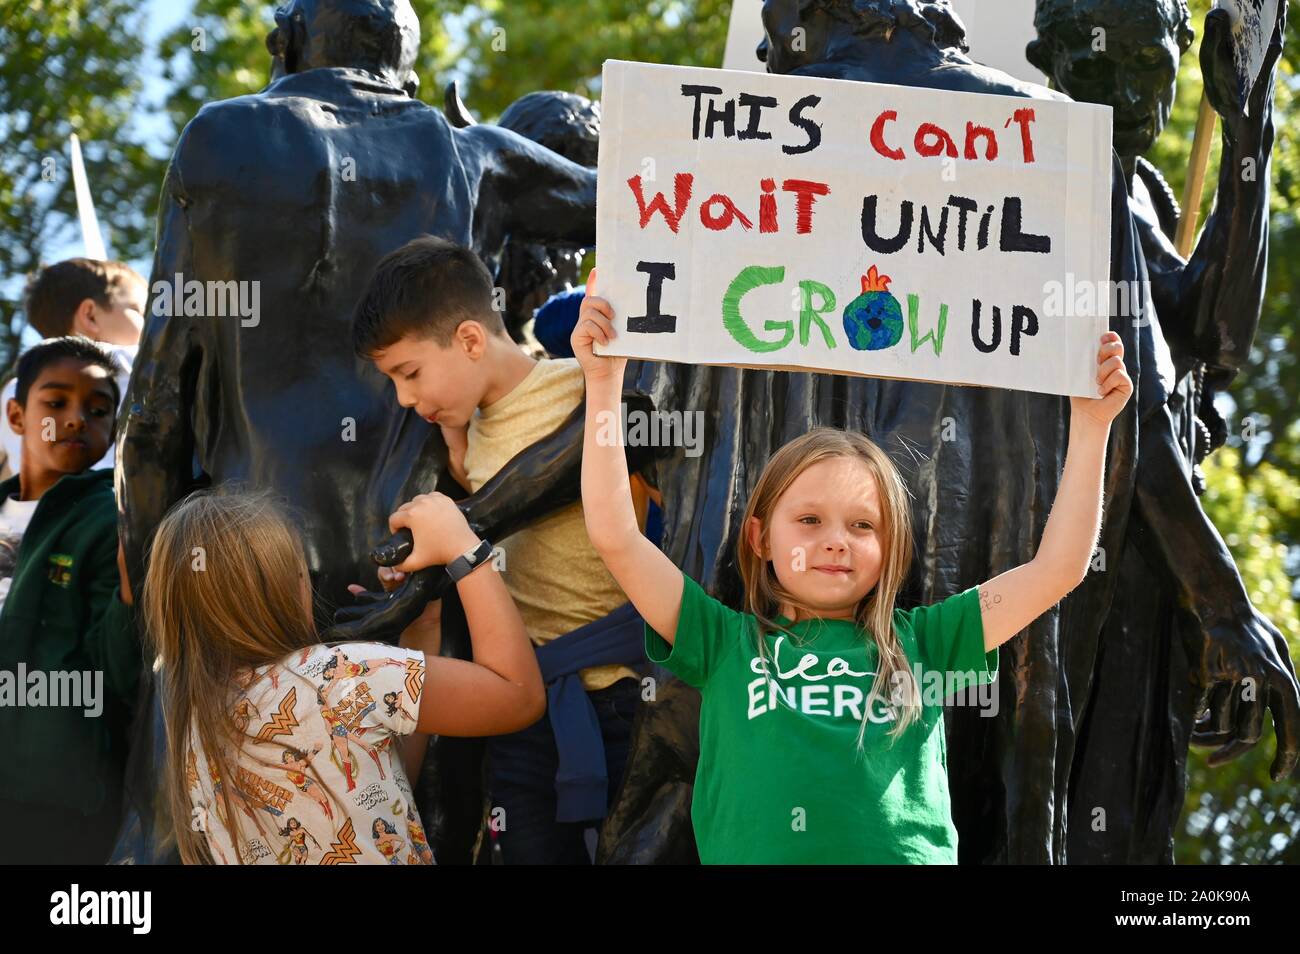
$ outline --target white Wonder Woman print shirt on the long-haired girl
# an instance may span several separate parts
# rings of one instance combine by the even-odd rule
[[[231,697],[243,732],[226,755],[233,777],[190,736],[192,827],[213,860],[433,864],[398,745],[422,690],[424,652],[384,643],[309,646],[246,672]]]

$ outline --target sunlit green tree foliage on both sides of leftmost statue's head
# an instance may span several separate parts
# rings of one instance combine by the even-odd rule
[[[719,65],[728,0],[481,3],[413,0],[420,17],[420,97],[441,107],[450,79],[480,120],[540,88],[599,96],[606,57]],[[151,156],[140,109],[146,53],[162,62],[166,144],[204,103],[265,87],[274,3],[192,0],[188,14],[146,51],[142,0],[0,0],[0,122],[10,148],[0,177],[0,266],[21,277],[43,250],[75,238],[68,133],[83,140],[96,211],[117,257],[147,259],[166,156]],[[148,104],[143,108],[153,108]],[[157,149],[156,149],[157,151]],[[40,161],[57,178],[43,182]],[[21,289],[21,281],[10,282]],[[0,361],[21,330],[17,294],[0,300]]]

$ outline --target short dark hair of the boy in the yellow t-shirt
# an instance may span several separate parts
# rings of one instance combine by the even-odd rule
[[[506,334],[493,308],[493,281],[469,248],[421,235],[389,252],[352,312],[352,348],[367,360],[400,338],[432,338],[447,347],[462,321]]]

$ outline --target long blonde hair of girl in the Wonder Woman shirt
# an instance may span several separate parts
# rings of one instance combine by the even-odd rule
[[[170,816],[186,864],[212,862],[207,840],[191,825],[191,732],[214,781],[224,782],[217,797],[238,854],[240,812],[229,758],[243,737],[230,710],[235,675],[317,642],[304,586],[309,577],[302,539],[265,493],[198,491],[168,512],[153,537],[140,606],[164,673],[168,760],[161,811]]]

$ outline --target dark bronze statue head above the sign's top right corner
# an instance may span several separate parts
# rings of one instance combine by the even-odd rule
[[[1192,44],[1187,0],[1037,0],[1024,55],[1080,103],[1114,110],[1115,151],[1152,147],[1174,107],[1178,60]]]

